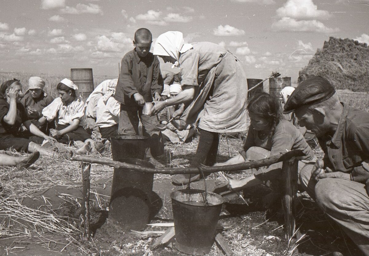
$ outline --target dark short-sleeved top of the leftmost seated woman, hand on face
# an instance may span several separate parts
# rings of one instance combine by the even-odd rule
[[[0,99],[0,134],[16,135],[23,122],[28,120],[27,113],[24,106],[20,102],[17,102],[17,118],[15,119],[15,124],[8,125],[4,122],[4,117],[8,114],[9,108],[9,103],[5,99]]]

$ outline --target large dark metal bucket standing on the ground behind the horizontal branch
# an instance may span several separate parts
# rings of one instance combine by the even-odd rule
[[[154,168],[140,159],[122,159],[127,164]],[[150,222],[154,174],[114,168],[109,204],[109,222],[120,230],[144,230]]]

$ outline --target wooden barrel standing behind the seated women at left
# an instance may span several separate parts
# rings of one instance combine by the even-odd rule
[[[70,80],[78,86],[79,95],[89,97],[94,90],[92,68],[71,68]]]

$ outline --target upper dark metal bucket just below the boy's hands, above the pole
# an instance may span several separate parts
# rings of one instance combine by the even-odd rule
[[[144,159],[147,137],[138,135],[114,135],[110,137],[111,153],[114,161],[126,158]]]

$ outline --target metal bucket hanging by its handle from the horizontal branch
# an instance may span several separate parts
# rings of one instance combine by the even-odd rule
[[[170,197],[176,248],[190,255],[206,255],[214,243],[223,198],[200,189],[181,189],[170,193]]]

